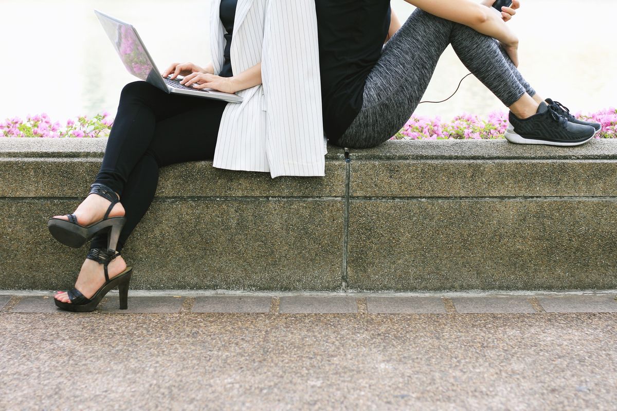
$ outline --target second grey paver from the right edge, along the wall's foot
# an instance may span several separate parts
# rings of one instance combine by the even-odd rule
[[[536,312],[527,297],[455,297],[452,303],[461,314],[531,314]]]

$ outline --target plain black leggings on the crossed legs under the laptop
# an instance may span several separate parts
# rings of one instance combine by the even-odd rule
[[[167,94],[145,81],[126,84],[94,182],[120,195],[126,224],[117,250],[143,218],[154,199],[159,168],[214,157],[226,102]],[[91,248],[106,248],[107,234]]]

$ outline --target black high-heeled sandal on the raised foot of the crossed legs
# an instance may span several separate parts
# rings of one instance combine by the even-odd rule
[[[77,224],[77,217],[75,217],[75,214],[67,214],[68,221],[59,218],[50,218],[47,222],[49,232],[60,243],[69,247],[80,248],[86,241],[94,237],[97,232],[101,230],[109,230],[107,234],[107,248],[109,250],[115,250],[118,245],[120,232],[126,222],[126,218],[109,218],[109,213],[111,213],[112,208],[120,202],[120,198],[118,198],[118,195],[114,192],[114,190],[107,187],[107,185],[99,183],[94,183],[90,186],[90,194],[92,193],[100,195],[101,197],[112,202],[109,205],[109,208],[107,208],[107,213],[105,213],[105,216],[101,221],[84,227]]]

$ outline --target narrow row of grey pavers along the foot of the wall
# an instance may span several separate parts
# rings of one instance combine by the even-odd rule
[[[0,312],[54,312],[52,291],[1,291]],[[532,314],[617,312],[617,291],[570,293],[239,293],[231,291],[130,291],[127,310],[112,290],[96,312],[270,314]],[[4,307],[4,308],[3,308]]]

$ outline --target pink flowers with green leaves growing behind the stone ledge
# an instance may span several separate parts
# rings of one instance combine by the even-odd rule
[[[582,120],[602,124],[602,131],[597,139],[617,138],[617,109],[614,107],[599,112],[582,115],[575,113]],[[114,119],[103,112],[92,118],[80,116],[77,120],[68,120],[64,125],[52,122],[45,113],[28,116],[26,120],[19,117],[7,119],[0,123],[0,137],[107,137]],[[404,128],[392,139],[396,140],[446,140],[446,139],[503,139],[508,126],[508,114],[493,112],[487,120],[476,115],[463,114],[450,122],[442,122],[439,117],[412,116]]]

